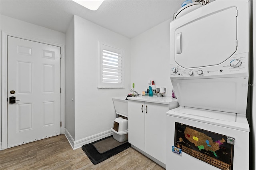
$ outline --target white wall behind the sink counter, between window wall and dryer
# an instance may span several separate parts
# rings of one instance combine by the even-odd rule
[[[166,87],[172,95],[170,81],[170,21],[165,21],[131,40],[131,83],[138,93],[148,88],[148,80],[156,87]]]

